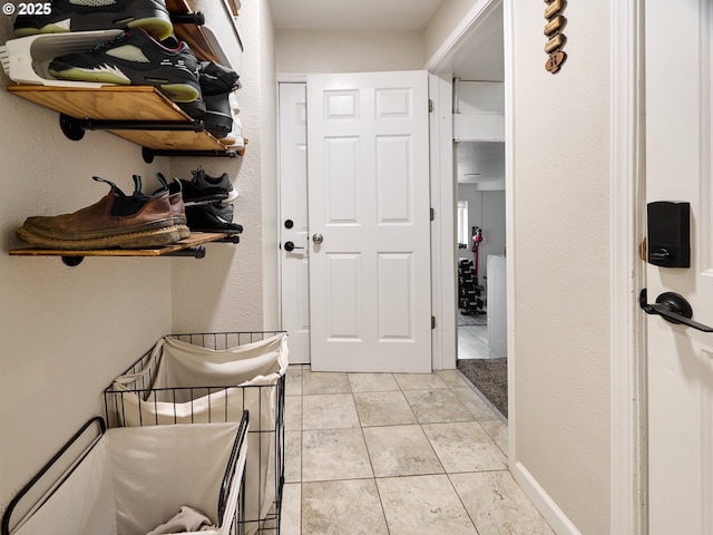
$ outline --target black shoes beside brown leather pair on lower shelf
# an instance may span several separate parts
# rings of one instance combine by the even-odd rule
[[[196,232],[243,232],[242,225],[233,223],[233,202],[238,194],[233,189],[227,173],[214,177],[201,167],[192,173],[191,181],[177,178],[183,189],[188,227]]]

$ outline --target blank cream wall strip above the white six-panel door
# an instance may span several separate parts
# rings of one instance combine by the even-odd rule
[[[418,31],[279,30],[277,72],[368,72],[423,68]]]

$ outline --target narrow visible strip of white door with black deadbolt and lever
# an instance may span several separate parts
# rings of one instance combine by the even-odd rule
[[[280,84],[281,315],[293,363],[310,362],[306,120],[306,85]]]

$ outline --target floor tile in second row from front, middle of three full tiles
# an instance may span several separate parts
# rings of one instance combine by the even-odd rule
[[[368,427],[363,431],[374,476],[443,473],[421,426]]]

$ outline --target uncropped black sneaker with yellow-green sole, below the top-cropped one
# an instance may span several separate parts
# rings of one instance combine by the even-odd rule
[[[195,103],[201,100],[197,64],[185,42],[170,49],[138,28],[86,52],[55,58],[48,70],[61,80],[154,86],[175,103]]]

